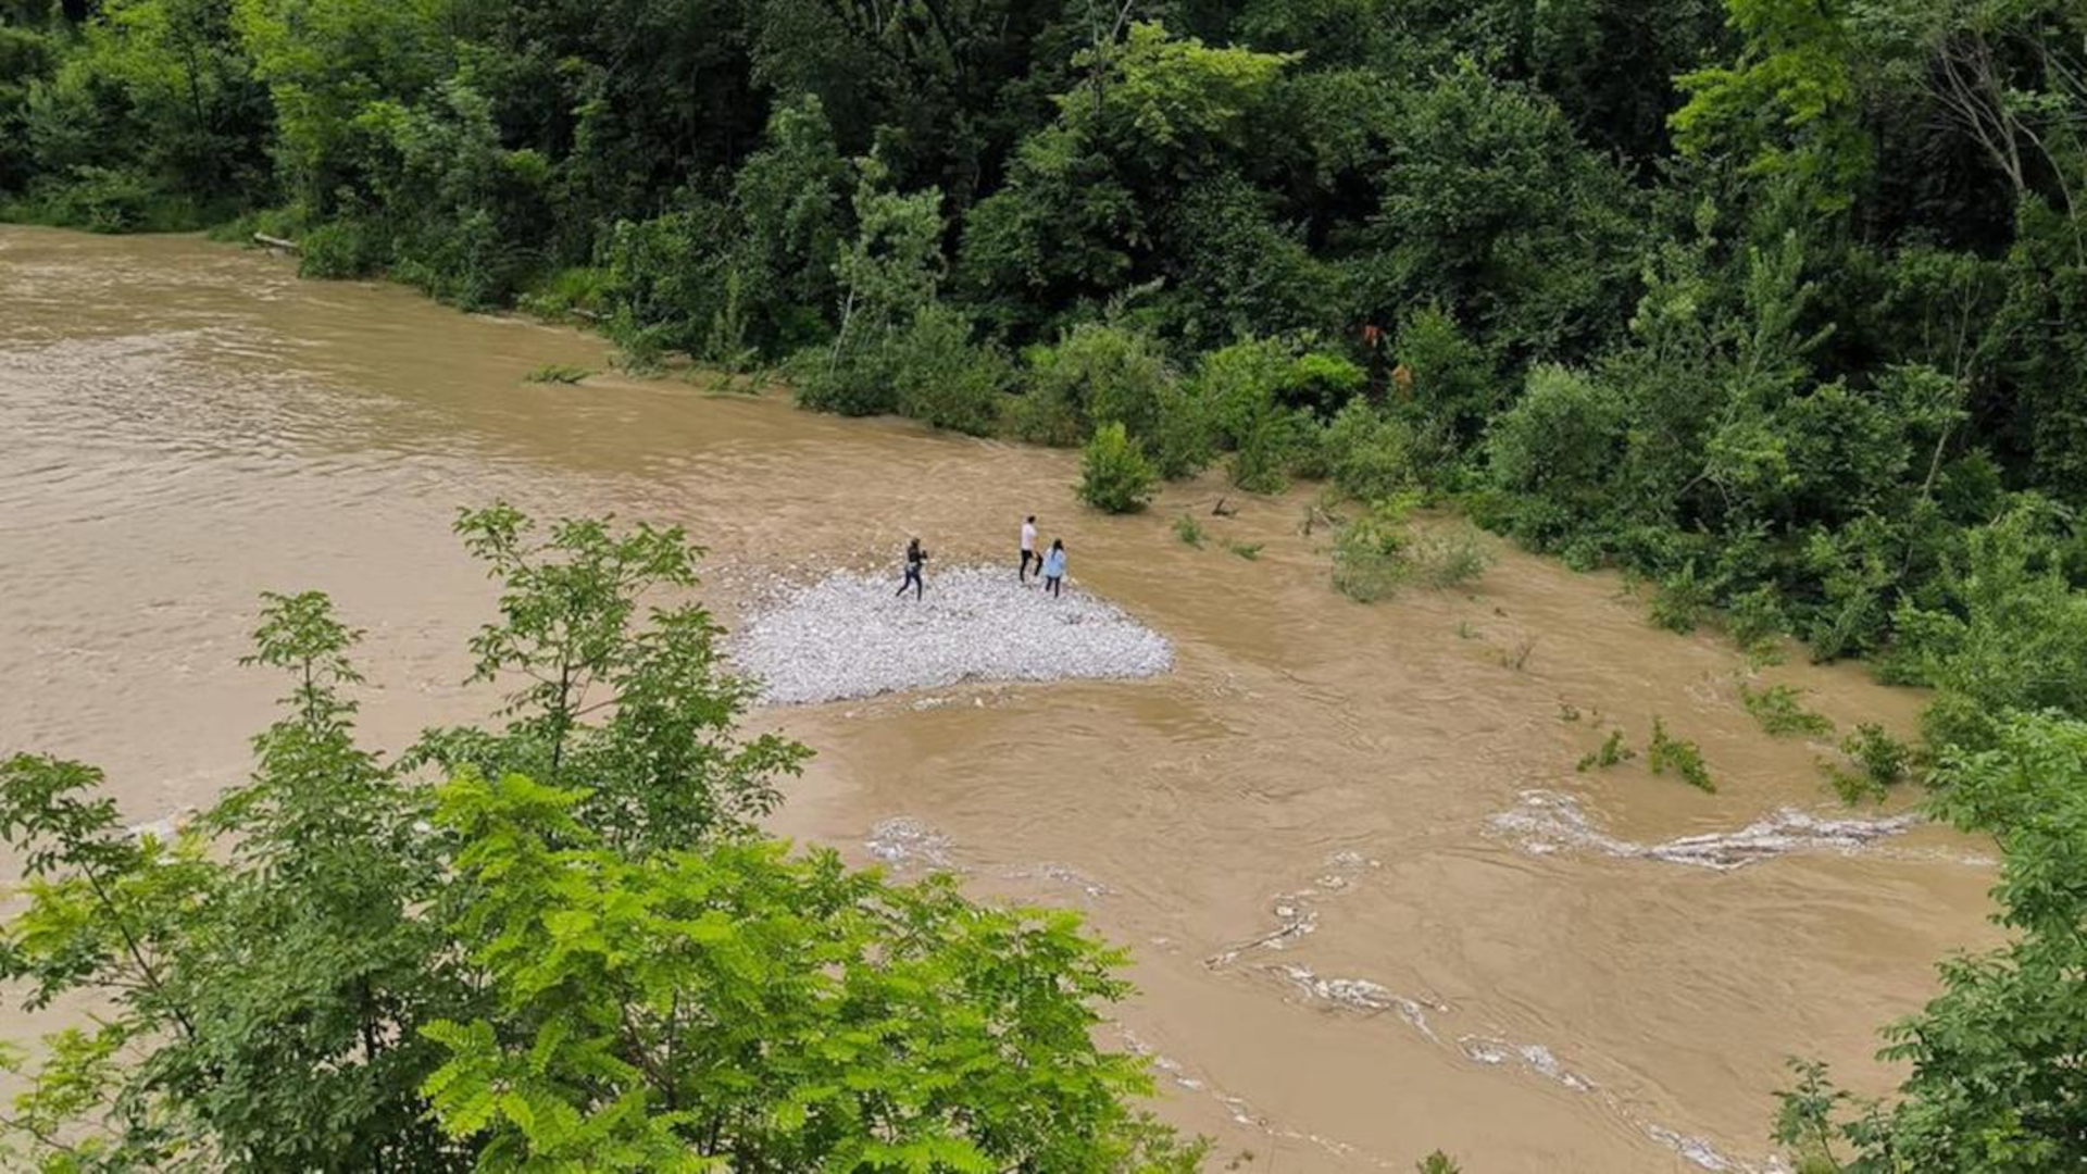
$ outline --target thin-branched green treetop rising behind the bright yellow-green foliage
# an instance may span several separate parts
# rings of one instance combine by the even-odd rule
[[[472,681],[520,687],[505,727],[432,729],[411,762],[584,781],[582,815],[626,852],[743,831],[774,808],[776,779],[810,752],[739,739],[753,687],[724,668],[716,620],[699,604],[647,606],[695,585],[687,533],[595,518],[538,533],[507,503],[461,512],[457,533],[501,583],[499,623],[472,639]]]

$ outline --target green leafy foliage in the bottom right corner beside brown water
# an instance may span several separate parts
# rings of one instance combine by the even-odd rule
[[[1999,840],[1995,921],[2010,942],[1941,963],[1943,992],[1887,1030],[1885,1057],[1908,1072],[1895,1099],[1851,1103],[1824,1065],[1801,1063],[1776,1138],[1814,1168],[1857,1174],[2066,1170],[2087,1130],[2087,1003],[2072,978],[2087,965],[2087,725],[2016,714],[1991,748],[1947,752],[1937,775],[1935,811]]]

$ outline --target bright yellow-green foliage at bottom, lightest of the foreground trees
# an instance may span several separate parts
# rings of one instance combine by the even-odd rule
[[[1142,1065],[1094,1044],[1129,988],[1077,917],[774,842],[628,859],[580,804],[440,792],[495,1011],[426,1026],[424,1086],[480,1170],[1188,1168],[1123,1107]]]

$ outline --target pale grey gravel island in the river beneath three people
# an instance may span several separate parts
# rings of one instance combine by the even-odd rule
[[[1006,568],[929,570],[927,597],[897,577],[837,572],[781,587],[730,639],[741,673],[776,706],[933,689],[960,681],[1152,677],[1173,666],[1162,635],[1106,600],[1052,600]]]

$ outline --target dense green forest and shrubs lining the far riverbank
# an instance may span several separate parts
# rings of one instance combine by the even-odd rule
[[[1930,687],[1918,767],[1847,752],[1999,838],[2020,936],[1893,1105],[1805,1074],[1862,1170],[2083,1149],[2083,192],[2068,0],[0,0],[8,217],[1092,445],[1102,508],[1325,478],[1361,595],[1455,501]]]

